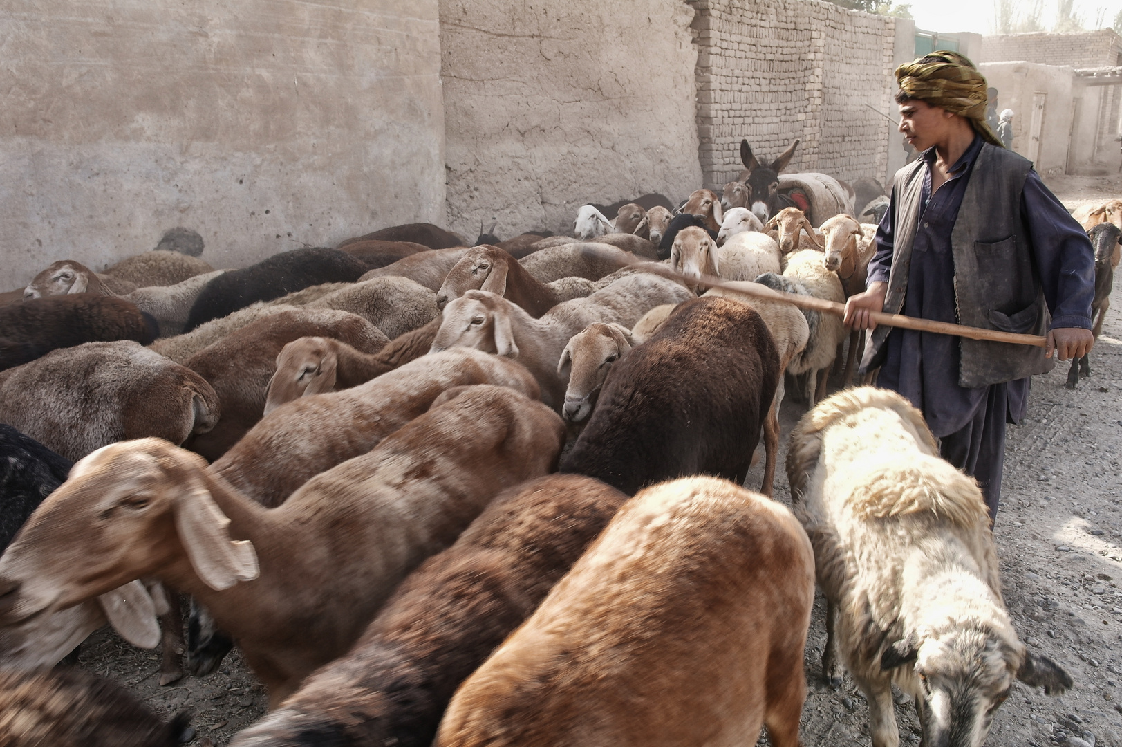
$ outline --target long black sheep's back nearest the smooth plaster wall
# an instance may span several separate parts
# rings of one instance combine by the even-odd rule
[[[232,270],[206,283],[191,307],[183,331],[188,332],[257,301],[272,301],[310,285],[353,283],[367,270],[361,259],[339,249],[320,247],[274,254],[256,265]]]

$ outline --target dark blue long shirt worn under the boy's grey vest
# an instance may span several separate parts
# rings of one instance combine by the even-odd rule
[[[974,162],[984,140],[974,142],[951,167],[951,176],[931,193],[935,148],[921,155],[926,162],[920,193],[920,221],[912,244],[908,292],[902,313],[909,317],[958,324],[955,309],[955,259],[950,234],[966,194]],[[867,283],[888,282],[894,246],[893,216],[896,194],[876,230],[876,254],[868,263]],[[1095,258],[1091,240],[1068,215],[1037,172],[1030,171],[1021,194],[1021,216],[1029,229],[1032,258],[1051,312],[1050,329],[1091,329],[1091,301],[1095,292]],[[950,435],[971,421],[984,407],[988,386],[958,385],[959,344],[957,337],[893,329],[884,341],[885,359],[877,384],[893,389],[923,412],[937,437]],[[1010,422],[1019,422],[1028,407],[1029,379],[1004,386]]]

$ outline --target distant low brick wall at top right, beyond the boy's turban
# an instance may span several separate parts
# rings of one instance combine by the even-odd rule
[[[977,62],[1037,62],[1069,67],[1112,67],[1119,64],[1122,38],[1113,29],[1078,34],[1008,34],[982,39]]]

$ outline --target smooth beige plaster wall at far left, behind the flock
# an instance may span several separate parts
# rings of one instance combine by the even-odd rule
[[[443,221],[436,0],[12,0],[0,26],[0,291],[175,226],[224,267]]]

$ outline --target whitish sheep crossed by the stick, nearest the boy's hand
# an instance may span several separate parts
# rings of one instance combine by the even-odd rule
[[[845,303],[842,281],[837,273],[830,272],[822,265],[822,253],[818,249],[800,249],[789,254],[783,276],[797,281],[801,285],[800,290],[804,290],[809,295]],[[792,375],[807,374],[807,407],[813,407],[826,395],[826,377],[845,338],[846,329],[842,324],[842,317],[822,313],[819,324],[811,325],[807,349],[788,368]]]

